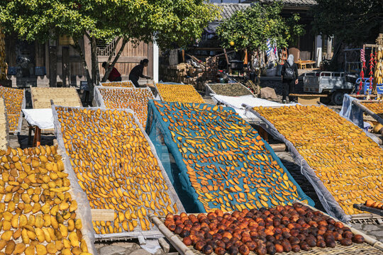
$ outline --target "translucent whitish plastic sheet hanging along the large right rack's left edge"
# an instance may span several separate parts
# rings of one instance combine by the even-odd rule
[[[336,217],[339,220],[342,220],[343,222],[350,221],[351,216],[345,214],[343,208],[340,207],[339,203],[335,200],[335,198],[330,193],[330,191],[328,191],[326,186],[323,185],[323,182],[321,181],[321,179],[319,179],[318,176],[316,175],[316,170],[314,170],[309,165],[309,163],[306,162],[304,157],[302,157],[301,154],[299,154],[298,150],[296,149],[296,147],[294,147],[292,142],[287,140],[287,138],[284,137],[284,135],[282,135],[277,130],[277,128],[275,128],[275,126],[272,125],[272,123],[270,123],[269,120],[267,120],[267,118],[260,115],[260,113],[257,113],[257,111],[252,109],[251,106],[247,106],[246,108],[248,108],[249,111],[257,115],[258,118],[263,120],[264,124],[261,124],[262,128],[267,130],[267,132],[269,132],[274,137],[277,137],[279,140],[282,140],[287,145],[287,147],[289,148],[289,151],[292,153],[294,161],[296,162],[296,164],[299,164],[299,166],[301,166],[301,173],[304,174],[306,179],[308,179],[310,183],[313,185],[313,188],[315,189],[319,200],[321,200],[323,208],[325,208],[326,212],[328,212],[329,215]],[[366,135],[368,135],[367,132],[365,133]]]

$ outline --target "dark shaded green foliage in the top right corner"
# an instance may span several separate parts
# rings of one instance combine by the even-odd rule
[[[313,29],[355,45],[374,42],[383,27],[382,0],[316,0]],[[381,31],[380,33],[382,33]]]

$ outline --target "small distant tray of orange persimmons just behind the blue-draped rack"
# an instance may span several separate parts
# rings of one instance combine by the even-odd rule
[[[204,98],[189,84],[156,84],[163,101],[179,103],[205,103]]]

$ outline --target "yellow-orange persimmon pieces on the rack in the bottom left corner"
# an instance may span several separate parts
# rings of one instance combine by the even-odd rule
[[[0,150],[0,254],[90,255],[55,146]]]

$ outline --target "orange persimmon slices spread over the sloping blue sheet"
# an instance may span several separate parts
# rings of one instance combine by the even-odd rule
[[[257,131],[232,109],[154,104],[183,159],[177,162],[179,169],[187,169],[182,174],[206,211],[271,207],[307,199]]]

